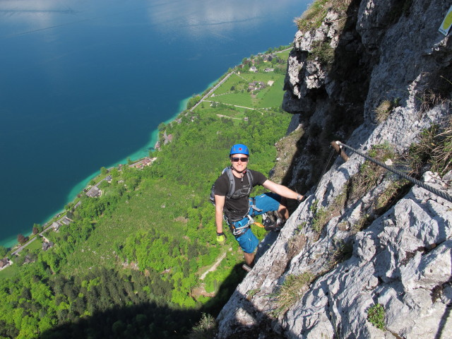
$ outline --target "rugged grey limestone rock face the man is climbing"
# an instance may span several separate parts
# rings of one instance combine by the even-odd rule
[[[331,148],[320,145],[336,138],[364,153],[385,145],[403,154],[450,117],[452,42],[438,32],[450,4],[349,2],[346,19],[330,11],[295,36],[283,107],[306,133],[285,184],[309,190],[307,199],[259,246],[218,316],[218,338],[452,337],[452,203],[386,172],[359,190],[364,159],[348,153],[328,165]],[[319,42],[333,60],[312,57]],[[377,122],[383,100],[393,108]],[[425,172],[422,181],[452,195],[451,177]],[[278,308],[281,286],[306,273],[298,297]],[[383,329],[368,320],[375,304]]]

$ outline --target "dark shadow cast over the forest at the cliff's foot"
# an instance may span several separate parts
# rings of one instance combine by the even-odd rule
[[[218,294],[199,308],[181,309],[169,307],[165,302],[148,302],[112,306],[107,311],[90,310],[90,316],[73,321],[68,319],[41,333],[40,338],[186,338],[203,313],[218,315],[245,274],[242,264],[235,266],[222,282]],[[78,312],[84,312],[84,309]]]

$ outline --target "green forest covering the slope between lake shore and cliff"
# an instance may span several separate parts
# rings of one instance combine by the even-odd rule
[[[282,101],[282,85],[273,91]],[[268,175],[291,117],[208,104],[161,124],[172,141],[150,150],[152,165],[108,169],[102,196],[68,204],[73,221],[46,233],[51,249],[13,258],[0,275],[0,338],[182,338],[201,314],[218,314],[245,272],[232,234],[215,240],[210,186],[234,143]]]

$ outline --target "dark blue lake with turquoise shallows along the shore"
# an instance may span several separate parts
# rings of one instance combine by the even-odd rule
[[[29,234],[100,167],[229,67],[290,44],[299,0],[0,0],[0,243]]]

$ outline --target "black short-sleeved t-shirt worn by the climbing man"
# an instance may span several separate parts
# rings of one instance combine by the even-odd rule
[[[253,174],[253,186],[262,185],[266,182],[267,178],[261,172],[253,171],[252,169],[247,169]],[[237,191],[239,189],[249,189],[249,180],[248,174],[244,174],[243,182],[241,178],[237,178],[234,176],[235,180],[235,188]],[[229,177],[227,176],[227,172],[221,174],[220,177],[215,182],[215,194],[217,196],[226,196],[227,192],[229,192]],[[247,190],[246,190],[247,191]],[[233,220],[237,220],[239,218],[243,218],[246,214],[248,214],[249,210],[249,195],[242,196],[237,199],[226,199],[225,200],[225,208],[223,210],[227,210],[227,215],[229,218]]]

